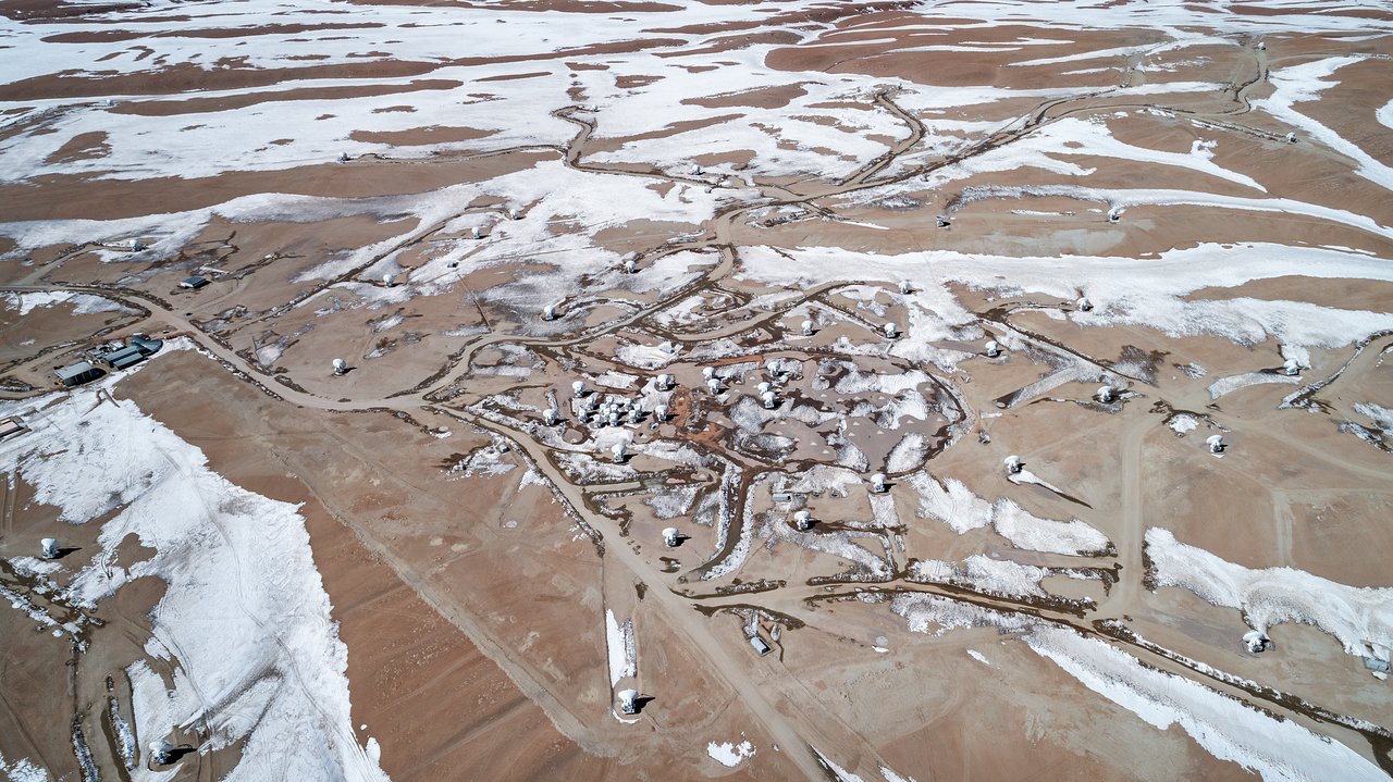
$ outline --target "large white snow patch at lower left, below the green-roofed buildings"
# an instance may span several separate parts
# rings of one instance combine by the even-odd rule
[[[113,513],[74,598],[100,605],[135,579],[166,583],[145,650],[176,675],[169,682],[145,661],[130,668],[139,735],[198,722],[202,751],[241,743],[227,779],[386,779],[354,737],[347,648],[304,518],[212,472],[198,448],[113,399],[111,385],[0,405],[0,415],[38,410],[29,437],[0,442],[0,463],[67,523]],[[130,534],[153,554],[124,566],[116,548]]]

